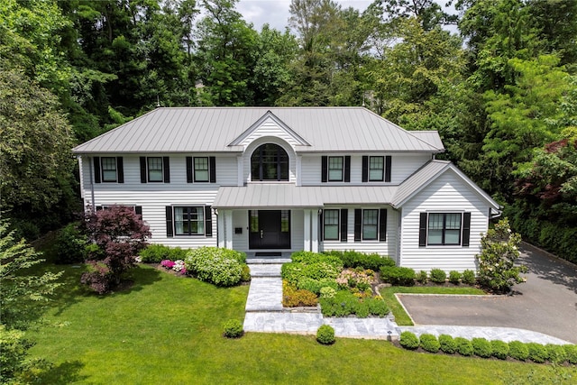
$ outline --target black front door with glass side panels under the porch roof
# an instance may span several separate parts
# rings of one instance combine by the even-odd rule
[[[290,210],[249,210],[250,249],[290,249]]]

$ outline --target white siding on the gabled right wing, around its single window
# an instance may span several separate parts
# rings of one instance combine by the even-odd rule
[[[463,182],[453,170],[447,170],[402,208],[402,241],[399,264],[415,270],[476,270],[475,254],[481,251],[481,233],[489,225],[487,201]],[[469,247],[419,247],[419,214],[422,212],[471,212]]]

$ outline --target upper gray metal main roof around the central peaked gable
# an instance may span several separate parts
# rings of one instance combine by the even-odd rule
[[[73,151],[243,151],[228,144],[269,111],[310,144],[298,151],[444,151],[438,133],[408,132],[364,107],[157,108]]]

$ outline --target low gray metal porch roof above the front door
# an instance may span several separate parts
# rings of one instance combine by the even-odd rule
[[[215,208],[307,208],[326,205],[389,205],[396,186],[295,186],[253,183],[218,189]]]

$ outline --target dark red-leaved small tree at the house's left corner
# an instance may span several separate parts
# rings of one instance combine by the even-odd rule
[[[135,256],[147,246],[151,232],[141,215],[126,206],[88,213],[84,225],[92,243],[87,249],[91,270],[82,274],[81,282],[104,294],[116,288],[124,273],[133,268]]]

